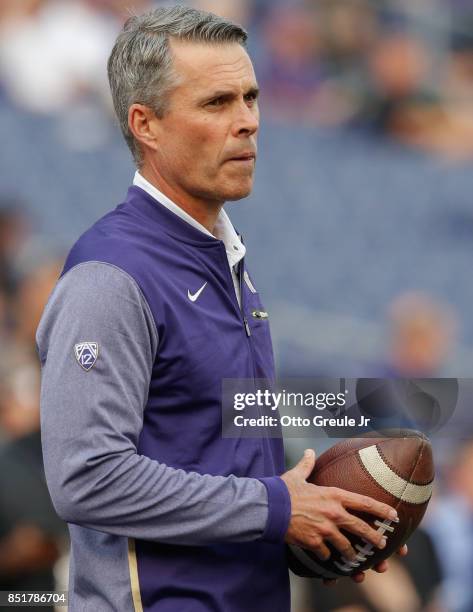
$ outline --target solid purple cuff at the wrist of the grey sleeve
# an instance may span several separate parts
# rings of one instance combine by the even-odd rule
[[[268,520],[263,540],[283,542],[291,520],[291,498],[286,484],[279,476],[258,478],[268,493]]]

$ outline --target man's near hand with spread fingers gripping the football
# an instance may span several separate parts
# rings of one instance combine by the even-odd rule
[[[345,558],[354,560],[356,552],[341,528],[356,534],[382,549],[386,538],[368,523],[350,514],[347,508],[368,512],[381,520],[398,521],[397,512],[391,506],[371,497],[351,493],[337,487],[319,487],[307,482],[315,464],[315,452],[306,450],[304,457],[292,469],[281,476],[291,498],[291,521],[286,542],[312,550],[323,561],[330,557],[326,542],[330,542]],[[402,550],[402,549],[401,549]],[[384,563],[377,568],[386,571]],[[363,572],[354,576],[363,580]]]

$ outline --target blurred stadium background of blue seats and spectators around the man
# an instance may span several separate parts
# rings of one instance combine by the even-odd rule
[[[65,584],[67,535],[41,472],[34,334],[67,250],[132,180],[105,66],[127,14],[156,4],[0,3],[0,590]],[[228,209],[279,374],[470,377],[473,2],[187,4],[250,32],[257,180]],[[407,560],[362,587],[294,580],[294,612],[473,611],[468,398],[459,411]],[[298,450],[288,445],[290,462]]]

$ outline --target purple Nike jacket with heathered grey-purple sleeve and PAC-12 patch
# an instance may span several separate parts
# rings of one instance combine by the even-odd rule
[[[241,309],[224,244],[139,187],[72,248],[37,334],[71,612],[289,610],[282,440],[221,435],[222,379],[274,378],[240,274]]]

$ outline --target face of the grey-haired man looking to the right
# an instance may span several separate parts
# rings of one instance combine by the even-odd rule
[[[259,123],[250,58],[238,43],[172,40],[171,48],[179,84],[145,160],[175,198],[239,200],[253,186]]]

